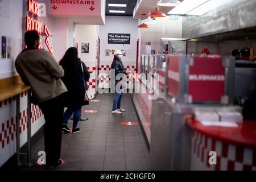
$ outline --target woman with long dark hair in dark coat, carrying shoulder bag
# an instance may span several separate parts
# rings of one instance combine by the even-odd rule
[[[88,90],[87,80],[90,78],[90,73],[86,65],[79,59],[78,51],[75,47],[71,47],[65,52],[63,59],[60,60],[60,65],[65,71],[62,80],[68,89],[66,94],[66,106],[68,109],[64,113],[62,130],[65,133],[70,132],[67,124],[73,113],[72,133],[77,133],[80,131],[77,125],[81,117],[81,108],[83,105],[89,104],[88,101],[84,101],[84,94]]]

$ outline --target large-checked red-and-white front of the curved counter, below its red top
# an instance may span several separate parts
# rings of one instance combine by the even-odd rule
[[[216,165],[209,164],[209,151],[216,151]],[[256,148],[234,146],[194,131],[192,138],[191,169],[213,171],[255,171]]]

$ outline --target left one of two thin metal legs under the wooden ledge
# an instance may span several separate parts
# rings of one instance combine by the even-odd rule
[[[16,154],[17,154],[17,164],[20,166],[20,158],[19,158],[19,94],[16,96]]]

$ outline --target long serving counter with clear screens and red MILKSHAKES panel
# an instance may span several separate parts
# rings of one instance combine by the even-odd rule
[[[242,113],[233,105],[234,59],[142,55],[141,60],[142,74],[133,76],[133,101],[150,144],[150,168],[198,169],[192,154],[195,131],[187,119],[199,111]]]

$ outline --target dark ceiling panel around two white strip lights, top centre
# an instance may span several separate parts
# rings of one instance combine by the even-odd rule
[[[134,6],[137,0],[106,0],[107,16],[133,16]],[[108,4],[126,4],[127,7],[109,7]],[[109,13],[109,10],[125,10],[125,13]]]

